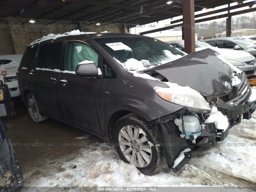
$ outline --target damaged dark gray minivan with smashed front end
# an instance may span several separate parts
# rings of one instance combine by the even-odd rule
[[[217,52],[184,55],[131,34],[45,36],[27,47],[18,84],[34,122],[50,117],[95,134],[146,175],[224,140],[256,108],[246,75]],[[184,154],[174,172],[191,158]]]

